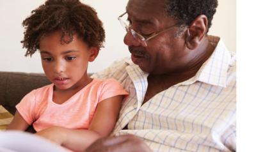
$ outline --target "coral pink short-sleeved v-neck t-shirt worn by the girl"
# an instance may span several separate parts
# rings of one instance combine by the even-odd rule
[[[99,102],[116,95],[128,95],[114,79],[93,79],[66,102],[58,104],[52,101],[53,86],[49,84],[31,91],[16,105],[22,118],[33,124],[36,132],[50,126],[88,129]]]

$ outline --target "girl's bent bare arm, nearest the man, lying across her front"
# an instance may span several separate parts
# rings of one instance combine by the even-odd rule
[[[36,133],[73,151],[84,151],[100,137],[108,136],[116,123],[122,105],[122,95],[102,100],[97,106],[88,130],[71,130],[54,126]]]

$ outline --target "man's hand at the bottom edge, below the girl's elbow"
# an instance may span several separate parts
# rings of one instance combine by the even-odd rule
[[[142,139],[134,135],[120,135],[98,139],[86,149],[86,152],[152,152]]]

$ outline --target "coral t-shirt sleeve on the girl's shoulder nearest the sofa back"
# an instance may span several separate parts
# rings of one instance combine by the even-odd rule
[[[35,94],[36,90],[31,91],[16,105],[17,111],[19,111],[28,125],[31,125],[35,121]]]

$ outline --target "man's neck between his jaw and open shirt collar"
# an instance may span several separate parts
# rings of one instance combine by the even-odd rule
[[[188,60],[188,63],[182,68],[179,68],[179,70],[156,75],[149,74],[147,78],[147,93],[145,95],[143,103],[147,102],[157,93],[168,89],[168,87],[171,87],[175,84],[191,79],[191,77],[194,77],[198,70],[201,68],[201,66],[205,63],[205,61],[209,59],[213,51],[214,47],[205,37],[198,49],[191,50],[191,54],[188,55],[188,57],[190,58]]]

